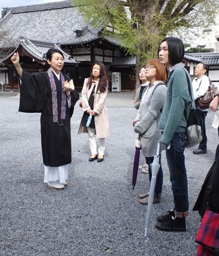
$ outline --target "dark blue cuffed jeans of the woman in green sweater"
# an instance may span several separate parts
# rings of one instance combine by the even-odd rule
[[[170,170],[170,180],[176,217],[189,215],[188,185],[184,150],[187,145],[186,133],[174,133],[170,149],[166,149],[166,159]]]

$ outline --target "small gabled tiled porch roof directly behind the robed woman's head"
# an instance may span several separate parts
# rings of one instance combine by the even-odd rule
[[[75,61],[74,59],[72,59],[70,55],[65,53],[57,44],[45,43],[45,42],[39,42],[39,41],[31,41],[31,40],[25,39],[25,38],[21,39],[18,47],[11,54],[9,54],[7,58],[3,59],[2,62],[3,63],[7,62],[7,60],[10,59],[11,56],[15,52],[17,52],[20,47],[25,49],[36,60],[41,60],[43,62],[46,61],[46,53],[47,53],[48,49],[56,48],[56,49],[59,49],[60,51],[62,51],[62,53],[64,55],[64,63],[65,64],[73,64],[73,65],[75,64],[76,65],[79,63],[78,61]]]

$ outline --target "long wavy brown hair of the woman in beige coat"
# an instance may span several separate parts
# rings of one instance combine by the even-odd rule
[[[99,69],[99,83],[98,83],[97,90],[99,90],[100,92],[105,92],[107,87],[108,87],[108,84],[109,84],[109,78],[106,74],[105,66],[100,61],[95,62],[94,65],[95,64],[99,65],[99,68],[100,68]],[[88,83],[87,83],[87,86],[88,86],[89,89],[91,87],[91,84],[92,84],[93,80],[94,80],[94,76],[91,72],[90,78],[89,78]]]

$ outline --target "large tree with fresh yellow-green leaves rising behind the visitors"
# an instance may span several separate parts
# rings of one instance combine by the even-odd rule
[[[103,37],[110,35],[126,53],[135,54],[138,67],[156,56],[166,35],[213,24],[219,8],[219,0],[73,0],[73,4],[87,22],[103,29]]]

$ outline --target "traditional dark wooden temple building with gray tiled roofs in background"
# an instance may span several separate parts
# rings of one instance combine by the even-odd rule
[[[85,23],[71,0],[3,8],[0,36],[0,59],[4,64],[0,64],[0,83],[10,90],[18,88],[11,62],[13,53],[19,52],[24,70],[40,72],[48,69],[45,54],[51,47],[64,51],[64,73],[73,78],[77,90],[82,89],[96,61],[106,67],[112,80],[110,90],[135,90],[135,57],[126,56],[118,41],[109,35],[102,38],[101,24],[93,28]],[[191,75],[199,59],[185,54],[183,61]]]

